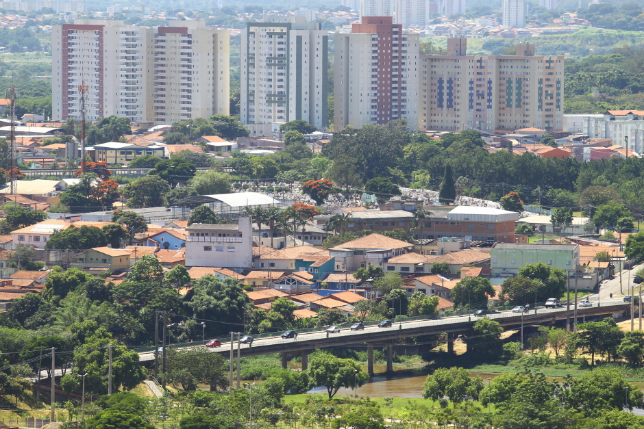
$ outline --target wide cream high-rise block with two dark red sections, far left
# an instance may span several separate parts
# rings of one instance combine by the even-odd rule
[[[52,28],[53,118],[171,124],[229,114],[230,36],[203,21],[134,27],[77,20]]]

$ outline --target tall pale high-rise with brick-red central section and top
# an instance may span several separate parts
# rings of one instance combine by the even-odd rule
[[[419,35],[402,32],[390,16],[365,16],[334,40],[334,129],[418,124]]]

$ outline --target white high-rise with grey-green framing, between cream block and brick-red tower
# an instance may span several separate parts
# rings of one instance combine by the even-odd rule
[[[241,35],[240,113],[245,124],[306,120],[325,129],[329,33],[304,16],[264,16]]]

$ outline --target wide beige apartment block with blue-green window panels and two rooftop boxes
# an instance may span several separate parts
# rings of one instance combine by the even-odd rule
[[[421,130],[563,129],[564,57],[467,55],[467,39],[447,39],[447,55],[421,55]]]

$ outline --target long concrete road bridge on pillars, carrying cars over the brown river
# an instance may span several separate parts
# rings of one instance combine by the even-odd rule
[[[630,312],[630,304],[623,302],[623,299],[609,300],[608,302],[593,302],[593,307],[578,308],[578,321],[582,322],[585,317],[599,315],[619,315]],[[557,321],[566,320],[567,308],[560,309],[532,309],[530,313],[512,313],[502,311],[490,313],[487,317],[496,320],[506,330],[521,328],[532,324],[554,325]],[[573,307],[569,311],[569,318],[573,319]],[[473,324],[478,317],[463,315],[455,317],[444,317],[434,320],[413,320],[395,322],[391,328],[378,328],[377,326],[365,326],[364,330],[351,331],[343,328],[340,333],[326,333],[323,328],[318,332],[301,333],[297,339],[282,339],[279,336],[260,338],[252,344],[240,345],[242,356],[259,356],[262,354],[281,353],[282,367],[286,368],[288,354],[301,354],[302,369],[308,367],[308,355],[317,348],[348,346],[351,344],[367,343],[367,370],[373,374],[373,346],[386,346],[387,348],[387,371],[393,370],[393,344],[401,338],[415,337],[419,335],[433,335],[447,333],[447,351],[454,351],[454,340],[456,334],[467,335],[471,333]],[[571,320],[571,329],[574,321]],[[237,345],[233,344],[234,348]],[[230,342],[225,342],[220,348],[212,348],[210,351],[228,356],[230,354]],[[154,353],[151,351],[141,352],[140,361],[153,361]]]

